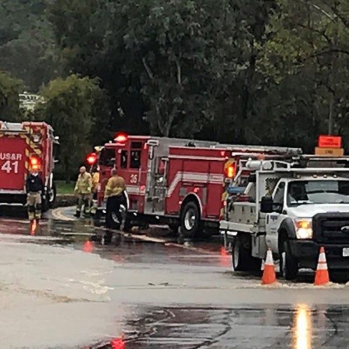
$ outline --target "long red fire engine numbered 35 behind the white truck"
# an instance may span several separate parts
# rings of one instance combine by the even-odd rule
[[[99,156],[97,216],[105,213],[104,188],[115,166],[126,181],[126,225],[169,225],[184,237],[218,232],[228,186],[246,153],[289,154],[290,149],[119,134]]]

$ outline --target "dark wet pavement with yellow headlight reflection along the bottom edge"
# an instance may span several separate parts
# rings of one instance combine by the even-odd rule
[[[125,348],[349,347],[349,309],[342,306],[137,307],[133,312],[124,324]]]

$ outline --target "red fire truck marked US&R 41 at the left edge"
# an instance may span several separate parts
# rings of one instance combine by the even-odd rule
[[[53,129],[44,122],[0,121],[0,205],[22,206],[26,202],[25,181],[29,168],[39,170],[46,193],[43,211],[53,204]]]

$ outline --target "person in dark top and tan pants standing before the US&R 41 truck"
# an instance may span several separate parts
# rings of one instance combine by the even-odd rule
[[[41,218],[41,195],[45,191],[43,179],[38,170],[31,170],[26,181],[27,206],[29,221],[39,221]]]

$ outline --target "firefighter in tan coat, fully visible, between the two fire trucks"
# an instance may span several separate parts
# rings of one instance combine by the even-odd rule
[[[80,168],[80,174],[77,177],[74,193],[77,196],[77,207],[75,217],[80,217],[82,205],[84,205],[84,215],[88,216],[91,209],[91,191],[92,191],[92,177],[86,168]]]

